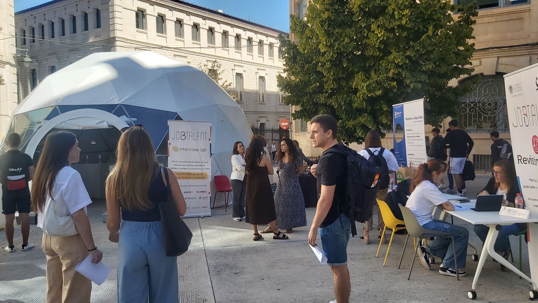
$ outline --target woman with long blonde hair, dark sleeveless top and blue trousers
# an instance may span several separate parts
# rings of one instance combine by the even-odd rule
[[[159,203],[168,200],[168,174],[172,199],[185,215],[181,188],[170,168],[157,162],[143,126],[122,133],[116,154],[106,196],[109,239],[119,242],[118,302],[179,302],[178,265],[165,253]]]

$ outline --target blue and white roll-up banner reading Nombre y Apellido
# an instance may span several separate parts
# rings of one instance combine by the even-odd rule
[[[392,105],[394,156],[401,166],[417,167],[428,160],[424,139],[424,99]],[[396,132],[403,132],[398,141]]]

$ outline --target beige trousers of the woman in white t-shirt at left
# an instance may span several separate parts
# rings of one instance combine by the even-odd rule
[[[41,248],[47,257],[47,302],[89,303],[91,281],[75,271],[76,265],[89,255],[82,237],[43,234]]]

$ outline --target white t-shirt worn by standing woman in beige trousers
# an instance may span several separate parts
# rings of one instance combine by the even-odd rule
[[[47,192],[45,199],[43,209],[48,203],[55,203],[56,214],[63,216],[70,216],[81,208],[86,212],[86,206],[91,203],[80,173],[71,166],[64,166],[58,172],[52,187],[52,198]],[[38,209],[37,227],[43,228],[42,220],[43,213]]]

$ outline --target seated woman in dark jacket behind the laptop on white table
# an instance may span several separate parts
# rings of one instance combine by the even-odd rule
[[[515,175],[514,163],[510,160],[499,160],[493,164],[493,177],[487,182],[486,187],[478,195],[503,195],[503,205],[515,207],[515,196],[519,193],[518,180]],[[519,234],[527,229],[527,224],[512,224],[502,226],[493,249],[505,259],[508,259],[508,242],[509,235]],[[475,225],[475,233],[482,240],[486,241],[487,232],[490,230],[485,225]],[[500,270],[505,271],[506,267],[502,264]]]

